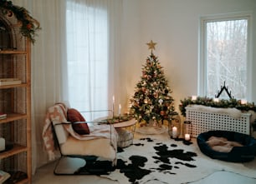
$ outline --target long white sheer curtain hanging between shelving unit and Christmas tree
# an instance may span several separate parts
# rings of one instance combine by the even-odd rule
[[[86,17],[87,19],[89,18],[87,17],[89,15],[95,16],[90,17],[95,18],[93,21],[87,22],[90,23],[90,26],[85,25],[84,22],[81,22],[81,24],[77,25],[77,27],[73,27],[73,30],[71,29],[72,26],[68,26],[69,31],[75,32],[79,27],[83,27],[84,25],[82,32],[85,32],[86,30],[87,33],[84,36],[81,34],[82,32],[80,32],[79,38],[87,37],[87,41],[90,40],[90,42],[86,42],[86,40],[84,40],[83,42],[75,45],[75,42],[69,41],[69,44],[75,44],[72,46],[69,44],[67,45],[66,35],[68,32],[66,32],[65,15],[67,2],[75,2],[71,3],[72,6],[69,7],[73,12],[76,11],[74,8],[78,8],[77,10],[79,10],[82,7],[90,7],[86,11],[79,10],[79,13],[84,14],[82,17]],[[88,108],[89,110],[94,110],[98,107],[100,109],[109,108],[108,104],[111,104],[112,95],[114,92],[118,93],[118,86],[120,85],[118,68],[120,61],[119,44],[121,2],[121,0],[13,0],[13,4],[28,9],[32,16],[41,23],[42,27],[42,30],[38,32],[38,37],[36,37],[36,42],[32,47],[33,172],[35,172],[37,167],[40,167],[48,162],[48,157],[46,152],[44,152],[43,140],[41,137],[44,124],[44,116],[48,107],[52,106],[54,102],[69,100],[70,97],[72,105],[74,102],[74,106],[81,109]],[[107,15],[106,19],[100,18],[102,21],[100,26],[93,26],[94,23],[95,25],[98,24],[98,17],[105,17],[105,15]],[[77,17],[75,16],[74,22],[77,22]],[[90,37],[89,39],[89,36],[91,35],[88,33],[90,31],[90,27],[93,26],[97,28],[96,30],[99,30],[98,28],[100,28],[102,25],[106,26],[103,27],[103,29],[107,29],[107,32],[105,33],[107,38],[100,38],[95,36]],[[87,27],[86,29],[85,26]],[[74,35],[77,34],[78,33],[74,33]],[[97,34],[98,32],[95,31],[95,35]],[[100,39],[103,39],[102,42]],[[92,43],[91,40],[95,42]],[[84,51],[81,51],[80,47],[87,48]],[[105,50],[105,48],[107,49]],[[101,52],[100,54],[98,53],[99,49]],[[70,50],[72,52],[67,52]],[[83,61],[87,62],[86,64],[82,62],[84,67],[71,67],[71,70],[68,70],[70,65],[72,65],[73,57],[75,59],[75,65],[78,64],[77,61],[79,61],[81,58],[84,58]],[[67,58],[69,58],[69,61],[71,60],[71,62],[68,63]],[[100,61],[104,61],[105,64],[100,63]],[[98,69],[95,70],[94,68]],[[84,74],[79,73],[82,71],[90,72],[90,77],[83,77]],[[79,75],[77,75],[78,73]],[[70,82],[68,82],[69,77],[71,77]],[[83,79],[80,80],[80,77],[83,77]],[[89,82],[84,82],[84,84],[80,86],[76,80],[79,82],[89,80]],[[102,80],[105,86],[100,88],[99,83],[95,82],[95,80]],[[72,88],[72,85],[74,85],[75,89],[70,90],[69,88],[68,90],[68,87]],[[84,88],[82,87],[87,88],[87,91],[85,92]],[[92,91],[88,91],[88,89],[91,89]],[[74,92],[77,90],[78,92]],[[69,94],[77,96],[78,99],[70,96]],[[81,100],[79,100],[79,98]],[[102,106],[102,101],[104,101],[104,106]]]

